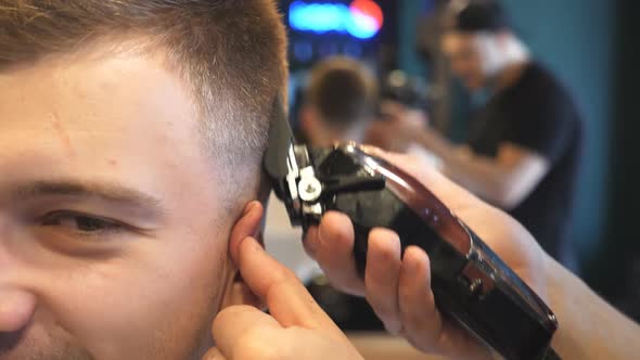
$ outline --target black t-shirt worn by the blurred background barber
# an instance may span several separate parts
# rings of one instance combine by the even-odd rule
[[[556,259],[571,218],[581,141],[583,125],[571,95],[536,63],[478,112],[469,139],[474,152],[485,156],[497,156],[499,146],[510,142],[549,162],[549,172],[509,214]]]

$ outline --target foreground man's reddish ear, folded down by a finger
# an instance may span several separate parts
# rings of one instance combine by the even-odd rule
[[[257,308],[264,307],[242,280],[242,275],[238,271],[236,266],[239,260],[239,246],[245,237],[254,237],[264,246],[261,231],[264,213],[265,210],[260,202],[253,201],[246,204],[242,215],[231,230],[231,236],[229,237],[229,256],[231,257],[231,263],[233,263],[234,275],[225,290],[222,308],[232,305],[251,305]]]

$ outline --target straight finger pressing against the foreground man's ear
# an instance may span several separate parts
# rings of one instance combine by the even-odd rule
[[[340,332],[297,277],[267,254],[255,239],[246,237],[241,242],[239,268],[248,287],[267,304],[271,316],[282,326]]]

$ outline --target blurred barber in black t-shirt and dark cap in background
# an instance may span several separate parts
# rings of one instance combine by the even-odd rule
[[[471,125],[466,145],[433,130],[400,126],[404,137],[435,153],[464,188],[507,209],[542,247],[565,260],[581,121],[571,95],[510,30],[502,8],[477,1],[455,11],[441,50],[470,91],[491,90]],[[415,112],[395,108],[398,121]]]

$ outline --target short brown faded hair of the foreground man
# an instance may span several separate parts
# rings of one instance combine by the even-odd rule
[[[0,0],[0,70],[112,37],[164,51],[209,119],[217,159],[259,165],[287,81],[273,0]]]

